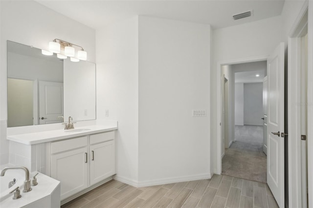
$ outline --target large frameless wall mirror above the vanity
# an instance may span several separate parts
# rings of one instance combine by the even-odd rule
[[[7,41],[8,127],[96,119],[96,66]]]

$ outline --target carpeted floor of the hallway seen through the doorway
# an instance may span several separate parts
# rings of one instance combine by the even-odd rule
[[[266,183],[263,126],[235,125],[235,140],[230,148],[225,149],[222,174]]]

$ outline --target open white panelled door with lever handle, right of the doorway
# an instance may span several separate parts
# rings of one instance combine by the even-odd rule
[[[268,57],[267,181],[280,208],[285,207],[284,184],[284,50],[280,43]]]

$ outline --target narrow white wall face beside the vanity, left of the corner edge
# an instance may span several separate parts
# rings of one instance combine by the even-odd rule
[[[97,30],[96,42],[97,119],[118,121],[116,178],[137,185],[138,18]]]

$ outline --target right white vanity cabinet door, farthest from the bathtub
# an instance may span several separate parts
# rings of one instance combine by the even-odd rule
[[[115,174],[114,141],[90,146],[90,185]]]

